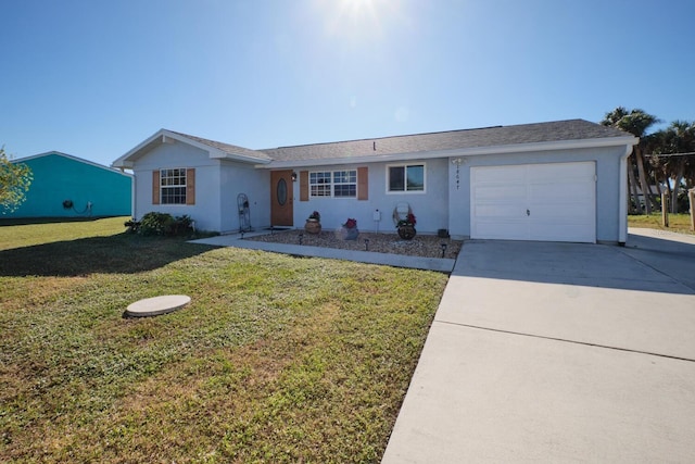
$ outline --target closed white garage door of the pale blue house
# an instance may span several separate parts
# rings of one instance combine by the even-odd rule
[[[470,168],[470,237],[596,241],[594,162]]]

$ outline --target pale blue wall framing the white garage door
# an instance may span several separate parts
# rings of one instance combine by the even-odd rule
[[[508,164],[558,163],[571,161],[596,162],[596,240],[619,241],[620,156],[624,147],[576,149],[548,152],[485,154],[463,158],[459,184],[456,186],[456,165],[448,161],[448,216],[451,234],[470,237],[470,167]]]

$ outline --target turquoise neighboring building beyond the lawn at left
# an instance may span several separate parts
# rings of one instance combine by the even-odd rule
[[[12,162],[28,165],[34,180],[26,192],[26,201],[0,217],[131,215],[131,174],[58,151]]]

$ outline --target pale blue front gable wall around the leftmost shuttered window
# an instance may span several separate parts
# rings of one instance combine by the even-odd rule
[[[152,171],[176,167],[195,168],[195,204],[152,204]],[[153,211],[188,214],[201,230],[222,230],[219,161],[211,160],[206,151],[178,141],[162,143],[140,158],[134,171],[136,218]]]

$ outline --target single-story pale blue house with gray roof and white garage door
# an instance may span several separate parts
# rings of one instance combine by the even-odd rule
[[[583,120],[251,150],[161,129],[117,159],[132,170],[134,216],[190,215],[201,229],[324,228],[348,217],[394,230],[407,202],[418,234],[626,242],[627,156],[639,139]]]

